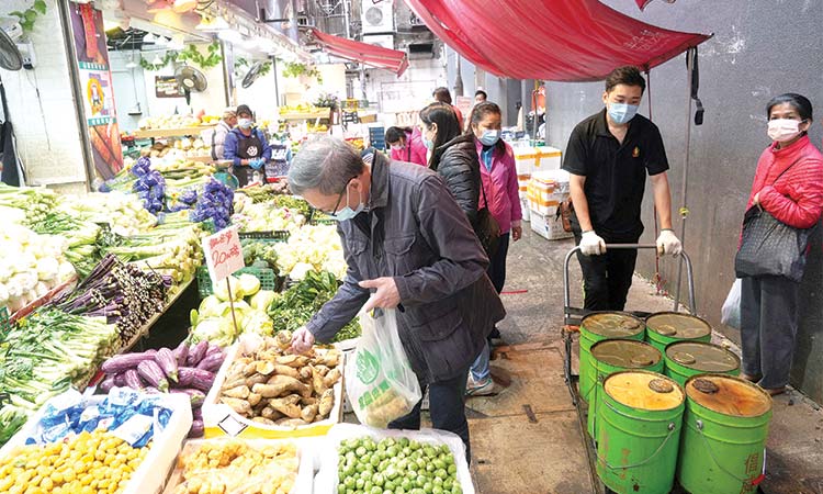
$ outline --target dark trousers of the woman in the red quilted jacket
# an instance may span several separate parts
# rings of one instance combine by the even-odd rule
[[[789,383],[798,333],[800,283],[785,277],[741,280],[740,323],[743,372],[766,389]]]

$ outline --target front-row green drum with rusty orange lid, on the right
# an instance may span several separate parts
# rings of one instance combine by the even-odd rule
[[[686,382],[677,479],[692,494],[755,493],[763,479],[771,396],[724,374]]]

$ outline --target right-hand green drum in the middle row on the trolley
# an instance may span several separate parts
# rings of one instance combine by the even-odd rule
[[[740,357],[718,345],[679,341],[666,347],[666,375],[681,385],[697,374],[740,374]]]

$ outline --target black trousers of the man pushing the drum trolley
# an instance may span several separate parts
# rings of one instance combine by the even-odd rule
[[[574,240],[580,245],[583,235],[575,229]],[[607,238],[607,244],[636,244],[639,238]],[[587,311],[622,311],[632,285],[636,249],[611,249],[600,256],[584,256],[577,252],[583,270],[583,307]]]

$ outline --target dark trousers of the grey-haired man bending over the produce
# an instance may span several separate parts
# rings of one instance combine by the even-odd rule
[[[461,372],[456,378],[448,381],[435,382],[428,385],[429,389],[429,414],[431,415],[431,425],[436,429],[448,430],[456,434],[463,439],[465,445],[466,460],[471,461],[471,448],[469,446],[469,422],[465,418],[465,385],[469,379],[469,369]],[[426,386],[420,385],[422,394],[426,394]],[[420,428],[420,404],[417,402],[415,408],[406,415],[388,424],[390,429],[410,429]]]

